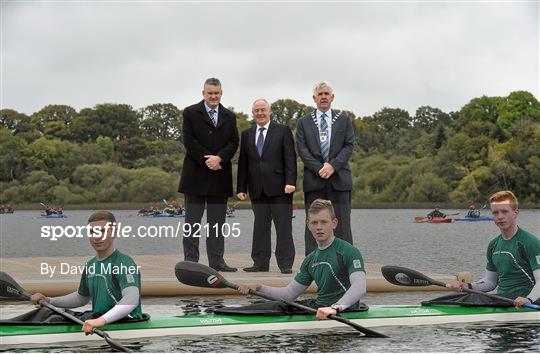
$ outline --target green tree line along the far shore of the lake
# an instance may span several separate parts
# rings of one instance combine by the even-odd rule
[[[230,108],[234,111],[234,108]],[[272,103],[296,131],[313,107]],[[527,91],[473,98],[459,111],[384,107],[352,119],[353,203],[477,202],[510,189],[540,203],[540,103]],[[238,130],[252,123],[237,112]],[[178,197],[185,150],[182,110],[98,104],[0,110],[0,203],[152,202]],[[238,157],[238,154],[236,158]],[[236,161],[234,161],[236,164]],[[236,166],[234,167],[236,171]],[[302,200],[302,163],[295,201]]]

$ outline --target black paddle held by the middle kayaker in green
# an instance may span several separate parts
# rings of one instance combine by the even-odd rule
[[[198,286],[202,288],[231,288],[238,290],[239,286],[237,284],[231,283],[227,279],[223,278],[221,274],[219,274],[216,270],[200,263],[196,262],[189,262],[189,261],[183,261],[176,263],[176,266],[174,267],[174,272],[176,274],[176,278],[186,285],[191,286]],[[272,301],[281,301],[284,304],[287,304],[291,307],[296,307],[301,310],[304,310],[306,312],[311,313],[317,313],[317,310],[308,306],[304,306],[302,304],[298,304],[296,302],[288,301],[285,299],[279,299],[275,298],[273,296],[261,293],[260,291],[251,289],[249,291],[252,295],[257,295],[259,297],[265,298],[267,300]],[[330,315],[328,318],[344,323],[346,325],[349,325],[356,329],[359,332],[362,332],[365,334],[366,337],[380,337],[380,338],[387,338],[388,336],[375,332],[371,329],[362,327],[354,322],[351,322],[343,317],[339,317],[336,315]]]

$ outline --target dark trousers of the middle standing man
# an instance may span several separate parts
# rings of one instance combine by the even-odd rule
[[[276,227],[276,260],[280,269],[292,268],[294,242],[292,237],[292,195],[260,198],[251,201],[255,215],[251,258],[260,268],[267,268],[272,255],[272,220]]]

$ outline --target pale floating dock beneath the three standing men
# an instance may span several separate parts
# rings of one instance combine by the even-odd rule
[[[179,295],[223,295],[235,294],[235,291],[228,288],[207,289],[196,288],[181,284],[174,275],[174,266],[183,260],[183,255],[136,255],[133,256],[135,262],[140,266],[142,277],[143,296],[179,296]],[[270,286],[285,286],[294,278],[304,257],[297,256],[293,274],[281,274],[275,259],[272,258],[269,272],[246,273],[242,270],[253,264],[249,254],[227,254],[225,261],[231,267],[237,267],[238,272],[223,273],[228,280],[239,284],[266,284]],[[1,270],[11,275],[19,284],[30,292],[41,292],[47,296],[59,296],[75,291],[79,286],[80,272],[75,274],[60,274],[61,263],[71,267],[82,267],[90,257],[24,257],[24,258],[2,258],[0,260]],[[206,257],[201,257],[201,263],[208,264]],[[46,274],[42,264],[56,267],[55,274]],[[381,274],[381,265],[374,263],[365,264],[367,271],[368,292],[391,292],[391,291],[429,291],[438,290],[440,287],[404,287],[388,283]],[[64,269],[66,269],[64,265]],[[73,269],[73,268],[72,268]],[[422,270],[420,270],[422,271]],[[457,275],[444,275],[424,272],[430,277],[447,282],[456,278],[470,281],[470,274],[462,272]],[[43,273],[43,274],[42,274]],[[315,284],[309,288],[310,292],[316,291]]]

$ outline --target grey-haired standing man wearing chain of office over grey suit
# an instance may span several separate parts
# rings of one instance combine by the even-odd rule
[[[343,113],[332,111],[332,87],[319,82],[313,88],[317,109],[298,121],[296,147],[304,162],[304,203],[318,198],[329,199],[334,205],[339,224],[335,234],[352,244],[351,191],[352,175],[349,158],[354,147],[354,128]],[[307,228],[304,234],[306,255],[316,247]]]

